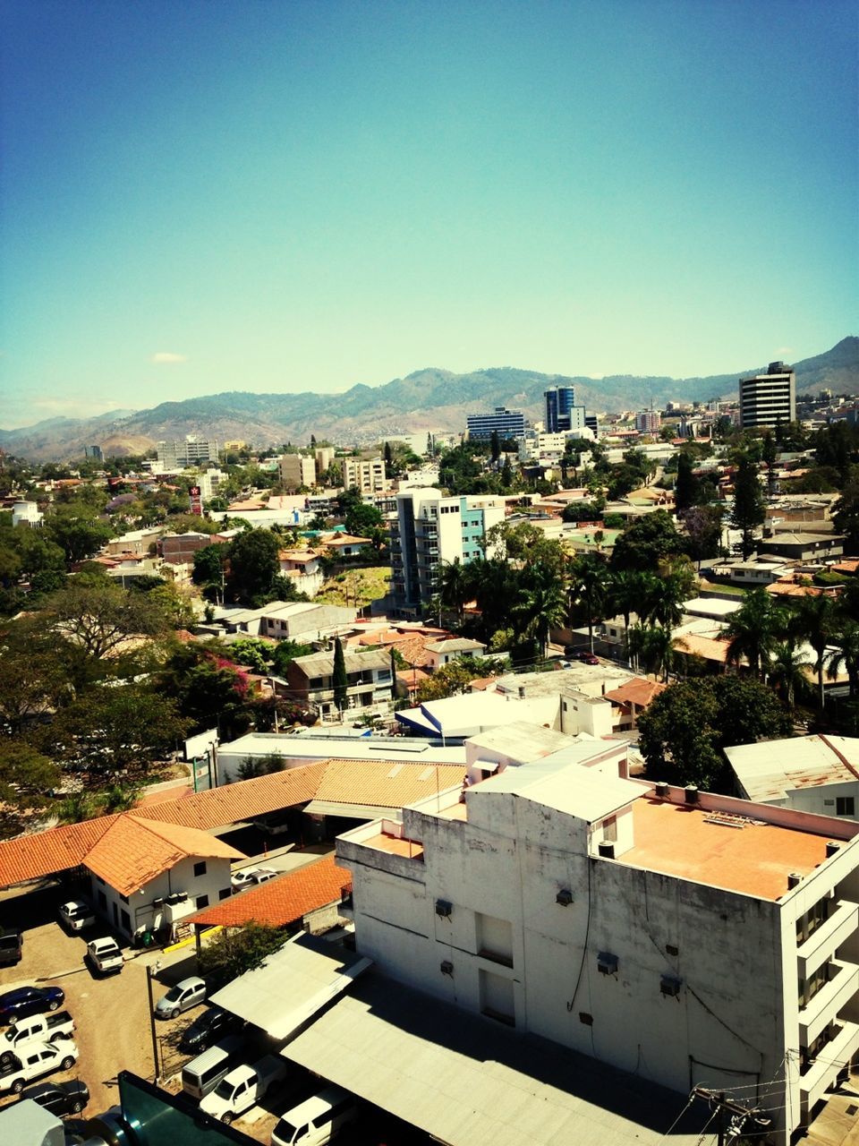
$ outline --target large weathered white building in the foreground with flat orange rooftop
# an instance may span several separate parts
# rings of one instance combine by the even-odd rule
[[[859,1050],[859,825],[614,769],[564,748],[341,835],[357,950],[786,1144]]]

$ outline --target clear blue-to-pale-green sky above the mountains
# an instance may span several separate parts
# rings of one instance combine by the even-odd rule
[[[853,0],[3,0],[0,426],[857,333]]]

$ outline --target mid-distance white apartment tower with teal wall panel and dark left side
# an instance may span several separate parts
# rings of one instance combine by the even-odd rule
[[[435,592],[442,563],[483,556],[483,539],[504,520],[504,499],[470,494],[446,497],[439,489],[396,495],[391,524],[391,588],[395,607],[416,612]]]

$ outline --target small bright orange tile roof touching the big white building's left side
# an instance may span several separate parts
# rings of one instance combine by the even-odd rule
[[[189,923],[211,927],[242,927],[249,923],[286,927],[310,911],[339,903],[344,892],[350,890],[352,873],[338,868],[330,855],[205,908],[191,916]]]

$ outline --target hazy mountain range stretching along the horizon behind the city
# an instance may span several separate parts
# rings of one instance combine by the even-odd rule
[[[310,434],[338,444],[370,445],[383,438],[421,431],[458,433],[467,414],[507,406],[542,416],[543,391],[573,385],[576,401],[589,410],[637,410],[671,401],[735,398],[748,370],[707,378],[610,375],[600,379],[538,374],[512,367],[452,374],[427,368],[380,386],[356,385],[340,394],[229,391],[206,398],[163,402],[152,409],[112,410],[94,418],[49,418],[17,430],[0,430],[0,447],[34,461],[80,457],[84,447],[98,445],[105,455],[137,454],[163,439],[196,433],[219,442],[243,440],[258,447]],[[843,338],[823,354],[795,362],[797,392],[830,388],[859,393],[859,338]],[[126,395],[132,399],[134,395]]]

